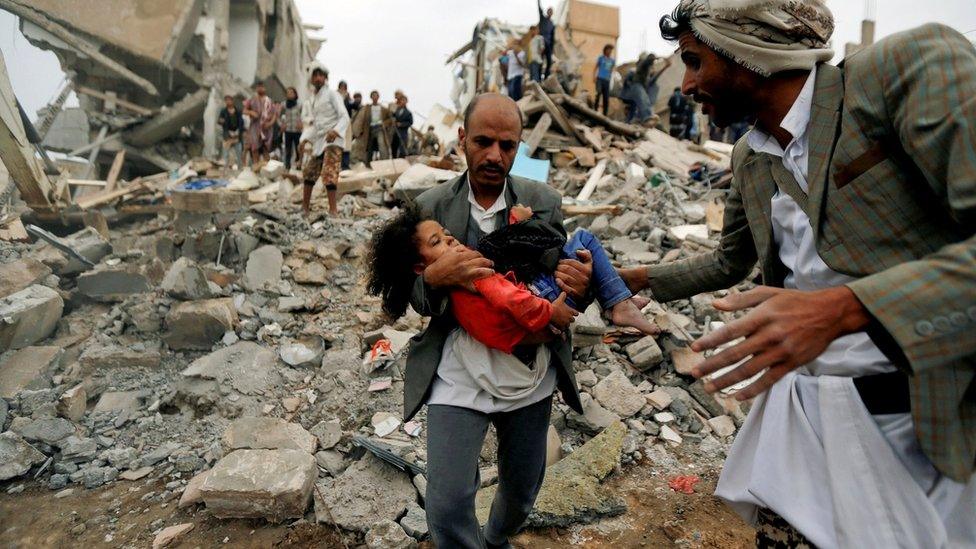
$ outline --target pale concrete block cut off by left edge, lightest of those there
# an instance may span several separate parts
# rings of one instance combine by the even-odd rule
[[[47,338],[63,311],[61,295],[40,284],[0,299],[0,352],[21,349]]]

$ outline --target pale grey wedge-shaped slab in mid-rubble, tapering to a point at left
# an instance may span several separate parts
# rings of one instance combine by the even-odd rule
[[[186,377],[213,379],[245,395],[260,395],[281,385],[273,351],[251,341],[239,341],[194,360]]]

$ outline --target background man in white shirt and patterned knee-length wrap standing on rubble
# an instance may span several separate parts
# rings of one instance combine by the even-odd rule
[[[305,124],[300,139],[312,148],[312,155],[302,170],[305,183],[302,189],[302,212],[305,215],[310,213],[312,189],[320,178],[329,196],[329,213],[339,213],[337,184],[346,129],[349,127],[349,113],[346,112],[342,97],[335,90],[329,89],[328,78],[329,71],[326,69],[315,67],[312,70],[311,83],[315,94],[308,100],[308,123]]]

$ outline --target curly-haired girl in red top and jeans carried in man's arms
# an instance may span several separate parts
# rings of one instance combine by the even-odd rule
[[[462,245],[437,221],[409,205],[373,235],[368,290],[383,298],[389,315],[399,318],[406,312],[415,276],[446,250]],[[590,287],[614,324],[658,333],[640,312],[646,298],[630,293],[596,237],[580,230],[567,242],[525,206],[511,208],[509,224],[478,241],[477,250],[494,262],[496,274],[453,290],[451,311],[471,337],[504,353],[547,326],[561,332],[579,306],[559,290],[553,272],[560,259],[575,258],[584,249],[593,257]]]

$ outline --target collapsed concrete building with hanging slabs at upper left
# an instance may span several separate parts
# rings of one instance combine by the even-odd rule
[[[82,179],[97,179],[123,151],[127,179],[215,155],[223,96],[263,82],[283,98],[322,43],[291,0],[0,0],[0,9],[66,73],[36,127],[46,149],[89,157],[96,169]],[[72,91],[80,108],[64,110]],[[56,194],[63,208],[77,191]]]

